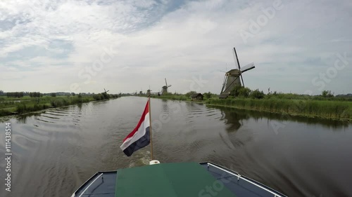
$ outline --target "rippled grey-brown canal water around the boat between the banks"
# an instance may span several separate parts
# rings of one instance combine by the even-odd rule
[[[150,147],[120,150],[145,104],[122,97],[11,118],[13,185],[5,191],[1,159],[1,196],[70,196],[98,170],[148,163]],[[213,161],[289,196],[352,196],[351,124],[156,99],[151,110],[163,163]]]

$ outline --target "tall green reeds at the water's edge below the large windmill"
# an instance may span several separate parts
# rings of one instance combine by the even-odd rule
[[[287,99],[250,99],[232,98],[221,100],[211,98],[206,104],[268,111],[279,114],[315,116],[352,121],[352,102],[331,100],[287,100]]]

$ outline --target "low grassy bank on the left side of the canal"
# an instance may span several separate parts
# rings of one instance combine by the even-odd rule
[[[63,107],[70,104],[80,104],[94,100],[103,100],[103,97],[94,95],[66,95],[44,97],[0,97],[0,116],[23,114],[30,111],[39,111],[51,107]]]

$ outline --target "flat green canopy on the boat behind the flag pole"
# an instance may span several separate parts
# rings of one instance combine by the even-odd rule
[[[115,197],[235,196],[199,163],[161,163],[118,170]]]

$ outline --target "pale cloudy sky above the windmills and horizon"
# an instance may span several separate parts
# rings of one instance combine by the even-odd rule
[[[0,90],[352,93],[352,1],[0,1]]]

